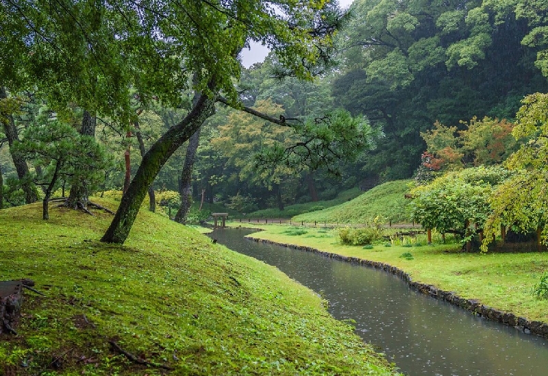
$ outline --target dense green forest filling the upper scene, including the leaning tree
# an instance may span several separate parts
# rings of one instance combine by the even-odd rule
[[[283,210],[499,163],[548,92],[543,1],[272,3],[2,0],[0,205],[123,190],[125,218],[173,190],[182,222],[190,201]],[[271,53],[244,68],[249,40]]]

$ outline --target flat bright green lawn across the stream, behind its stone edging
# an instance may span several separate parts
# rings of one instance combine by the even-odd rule
[[[337,230],[262,226],[255,238],[364,260],[385,262],[409,273],[414,281],[456,292],[465,299],[513,312],[529,320],[548,322],[548,300],[538,300],[532,286],[548,269],[548,253],[461,253],[460,245],[374,245],[371,249],[340,245]],[[422,244],[425,244],[424,242]]]

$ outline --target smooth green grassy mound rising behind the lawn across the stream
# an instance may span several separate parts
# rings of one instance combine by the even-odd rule
[[[375,216],[383,216],[392,223],[409,223],[407,201],[403,197],[409,190],[409,183],[410,180],[388,181],[362,193],[356,199],[325,210],[300,214],[293,217],[293,220],[308,223],[367,223]]]

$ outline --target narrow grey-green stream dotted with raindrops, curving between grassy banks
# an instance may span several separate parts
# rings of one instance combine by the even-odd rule
[[[384,271],[243,238],[251,232],[222,229],[211,236],[321,292],[334,317],[356,321],[356,333],[381,348],[403,373],[548,375],[543,338],[419,294]]]

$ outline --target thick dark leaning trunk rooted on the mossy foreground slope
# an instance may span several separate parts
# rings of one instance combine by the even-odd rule
[[[154,142],[147,151],[139,166],[137,173],[114,215],[114,219],[108,227],[102,242],[123,243],[129,235],[129,230],[135,221],[142,200],[147,195],[147,189],[154,181],[158,172],[166,161],[184,144],[186,140],[195,134],[203,121],[214,112],[215,98],[200,95],[192,106],[192,111],[177,125],[171,127],[166,133]]]

